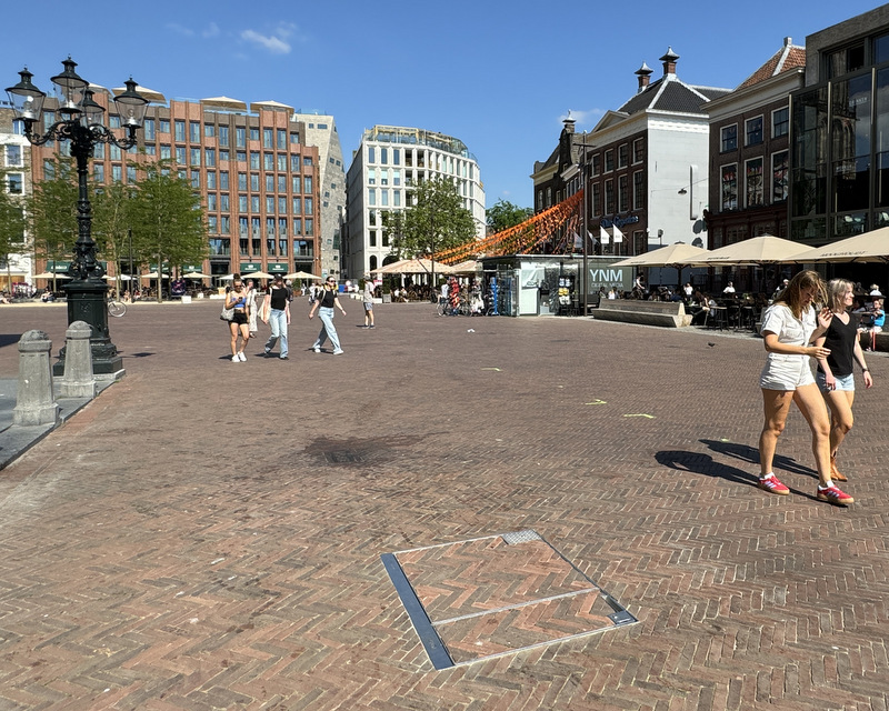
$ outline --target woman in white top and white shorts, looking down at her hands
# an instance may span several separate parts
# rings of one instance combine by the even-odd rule
[[[830,479],[830,419],[812,374],[812,358],[827,358],[830,350],[810,343],[830,326],[832,311],[813,303],[826,303],[825,282],[818,272],[801,271],[762,316],[762,333],[768,358],[759,378],[762,389],[765,424],[759,435],[759,488],[788,494],[778,481],[772,460],[778,438],[783,432],[790,403],[796,402],[812,431],[812,452],[818,469],[820,501],[847,505],[855,499],[840,491]]]

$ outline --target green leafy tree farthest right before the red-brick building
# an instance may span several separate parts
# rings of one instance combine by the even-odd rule
[[[169,161],[143,163],[139,170],[143,178],[130,206],[133,250],[139,261],[153,260],[159,272],[166,262],[203,261],[208,242],[200,196],[170,171]]]

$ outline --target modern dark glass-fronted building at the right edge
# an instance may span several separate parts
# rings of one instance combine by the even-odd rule
[[[790,236],[820,246],[889,226],[889,6],[807,37],[806,54]]]

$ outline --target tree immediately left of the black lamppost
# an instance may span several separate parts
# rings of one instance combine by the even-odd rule
[[[27,203],[34,257],[53,262],[71,259],[78,237],[77,201],[73,161],[59,157],[47,161],[43,180],[34,183]]]

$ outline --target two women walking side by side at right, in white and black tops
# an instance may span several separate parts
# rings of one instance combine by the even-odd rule
[[[866,388],[873,379],[850,313],[853,293],[850,281],[832,279],[826,284],[818,272],[801,271],[763,313],[760,332],[768,356],[759,381],[765,410],[759,487],[766,491],[790,493],[775,475],[772,463],[795,402],[812,433],[816,498],[840,505],[855,501],[836,484],[848,480],[837,469],[837,452],[852,429],[855,365],[861,369]],[[817,373],[812,372],[811,359],[817,362]]]

